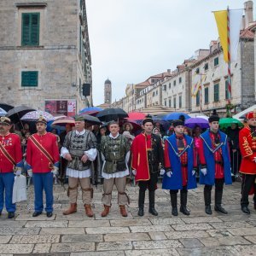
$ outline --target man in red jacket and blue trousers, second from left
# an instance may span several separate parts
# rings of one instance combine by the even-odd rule
[[[38,133],[33,134],[27,140],[26,162],[28,174],[33,175],[35,192],[35,212],[37,217],[44,210],[43,190],[46,195],[45,211],[47,217],[53,212],[53,174],[58,175],[59,148],[54,134],[46,131],[47,121],[40,117],[37,122]]]

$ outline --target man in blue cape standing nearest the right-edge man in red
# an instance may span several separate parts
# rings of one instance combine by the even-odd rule
[[[221,203],[224,183],[232,183],[228,139],[224,132],[218,130],[218,115],[212,115],[208,120],[210,129],[201,134],[201,146],[198,151],[201,161],[200,183],[205,185],[206,213],[212,214],[211,194],[212,185],[215,184],[214,210],[227,214]]]

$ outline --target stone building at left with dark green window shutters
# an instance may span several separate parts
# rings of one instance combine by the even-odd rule
[[[85,0],[1,0],[0,30],[1,102],[54,114],[90,104]]]

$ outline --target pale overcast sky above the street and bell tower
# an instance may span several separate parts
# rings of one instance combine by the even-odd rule
[[[119,100],[126,84],[174,70],[196,49],[208,49],[218,38],[212,11],[241,9],[244,2],[86,0],[94,105],[104,101],[106,79],[112,82],[112,100]]]

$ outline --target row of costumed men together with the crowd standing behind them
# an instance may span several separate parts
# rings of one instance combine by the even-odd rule
[[[60,174],[61,177],[68,177],[70,206],[63,212],[64,215],[77,212],[80,186],[85,214],[92,217],[91,183],[101,180],[102,217],[110,212],[114,184],[118,190],[120,214],[127,217],[125,206],[130,203],[130,198],[125,192],[125,185],[126,177],[131,175],[139,187],[139,216],[144,215],[147,189],[148,212],[158,215],[154,207],[154,191],[160,176],[162,189],[170,190],[173,216],[178,214],[178,190],[180,212],[189,215],[188,191],[197,187],[197,179],[204,185],[205,212],[212,214],[211,192],[214,185],[214,210],[227,214],[222,206],[224,184],[231,184],[232,176],[238,177],[239,173],[242,177],[241,211],[249,214],[248,195],[253,193],[256,209],[256,113],[247,113],[247,125],[241,130],[233,124],[220,131],[218,115],[212,115],[208,121],[209,129],[195,125],[191,130],[184,126],[181,117],[173,120],[168,131],[164,131],[160,122],[154,122],[148,116],[143,119],[142,131],[134,132],[129,122],[121,126],[114,120],[108,125],[88,125],[78,115],[75,125],[67,124],[66,130],[58,134],[56,130],[46,131],[47,121],[43,117],[35,122],[36,132],[31,131],[27,124],[20,131],[15,129],[11,132],[16,127],[9,118],[1,117],[0,215],[5,203],[8,217],[15,217],[12,189],[15,176],[20,176],[22,172],[33,180],[33,217],[44,210],[47,217],[52,216],[53,180],[55,177],[56,183]],[[43,192],[46,195],[45,207]]]

